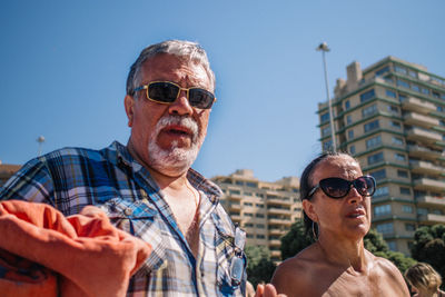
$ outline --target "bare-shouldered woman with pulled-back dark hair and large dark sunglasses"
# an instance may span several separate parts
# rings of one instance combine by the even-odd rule
[[[306,231],[315,244],[281,263],[257,296],[409,296],[402,274],[365,249],[375,180],[346,154],[313,160],[300,179]],[[264,294],[260,294],[264,293]]]

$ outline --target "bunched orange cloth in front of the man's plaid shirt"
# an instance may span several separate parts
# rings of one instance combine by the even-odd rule
[[[0,293],[14,297],[58,290],[63,297],[125,296],[151,251],[97,207],[65,217],[49,205],[19,200],[0,202]]]

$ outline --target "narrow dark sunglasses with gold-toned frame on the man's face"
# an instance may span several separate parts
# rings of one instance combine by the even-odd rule
[[[187,92],[191,107],[209,109],[216,100],[215,95],[205,89],[195,87],[186,89],[170,81],[151,81],[148,85],[136,88],[135,92],[140,90],[147,90],[147,99],[164,105],[175,102],[181,90]]]

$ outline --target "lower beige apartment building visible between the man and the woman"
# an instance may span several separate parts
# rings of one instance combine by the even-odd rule
[[[253,170],[241,169],[212,181],[222,189],[221,205],[233,221],[246,230],[246,244],[267,247],[271,260],[280,261],[280,238],[301,217],[298,178],[267,182],[255,178]]]

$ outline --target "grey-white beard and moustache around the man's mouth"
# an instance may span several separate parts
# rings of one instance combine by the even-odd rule
[[[172,141],[169,149],[159,147],[157,142],[159,132],[169,125],[182,126],[191,131],[189,148],[178,147],[178,141]],[[198,123],[192,118],[172,115],[162,117],[156,125],[155,131],[149,136],[148,159],[150,167],[166,176],[181,175],[191,167],[204,138],[199,135]]]

